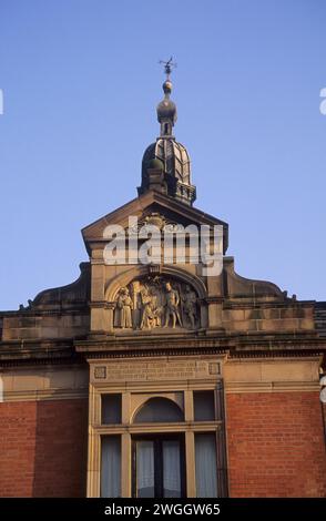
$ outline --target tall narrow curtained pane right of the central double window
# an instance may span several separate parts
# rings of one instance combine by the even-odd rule
[[[195,435],[196,497],[216,498],[216,442],[215,435]]]

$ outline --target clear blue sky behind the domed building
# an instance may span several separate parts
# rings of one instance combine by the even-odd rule
[[[171,54],[196,207],[237,272],[326,299],[326,2],[2,0],[0,309],[69,284],[133,198]]]

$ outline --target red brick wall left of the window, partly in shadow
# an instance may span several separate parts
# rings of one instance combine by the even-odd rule
[[[0,497],[85,496],[88,401],[0,403]]]

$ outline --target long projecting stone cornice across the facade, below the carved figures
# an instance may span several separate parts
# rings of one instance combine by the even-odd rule
[[[0,343],[0,367],[81,362],[85,357],[149,357],[227,354],[230,358],[305,357],[326,353],[326,338],[296,335],[128,335],[89,339],[10,340]]]

